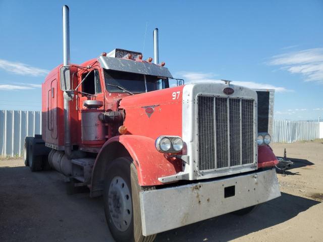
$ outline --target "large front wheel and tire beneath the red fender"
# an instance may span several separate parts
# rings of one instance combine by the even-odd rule
[[[149,187],[147,190],[153,190]],[[156,234],[143,236],[137,170],[132,159],[120,157],[107,168],[104,178],[104,212],[116,241],[151,242]]]

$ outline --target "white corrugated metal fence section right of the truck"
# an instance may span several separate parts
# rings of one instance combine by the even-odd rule
[[[323,123],[274,120],[273,142],[293,143],[295,141],[318,139],[320,138],[320,125],[323,125]]]

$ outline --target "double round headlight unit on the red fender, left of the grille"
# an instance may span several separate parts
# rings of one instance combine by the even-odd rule
[[[178,136],[159,136],[155,142],[156,149],[161,153],[178,153],[184,147],[184,142]]]

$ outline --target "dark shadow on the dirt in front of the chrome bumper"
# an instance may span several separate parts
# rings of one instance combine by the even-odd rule
[[[318,204],[315,200],[282,193],[245,216],[226,214],[157,235],[156,241],[229,241],[285,222]]]

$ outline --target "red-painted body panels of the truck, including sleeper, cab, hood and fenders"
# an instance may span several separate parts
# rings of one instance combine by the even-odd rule
[[[129,60],[131,61],[131,60]],[[137,60],[139,61],[139,60]],[[140,60],[142,61],[142,60]],[[151,64],[154,65],[154,64]],[[46,143],[64,146],[64,98],[60,89],[60,67],[53,69],[42,84],[42,137]],[[182,171],[182,161],[170,159],[159,153],[155,148],[155,139],[160,135],[182,137],[182,103],[183,88],[167,88],[137,95],[127,93],[110,93],[105,88],[103,70],[97,59],[91,59],[80,66],[91,66],[99,71],[101,90],[91,99],[100,100],[103,111],[124,110],[123,124],[109,124],[107,126],[107,141],[81,142],[81,110],[83,102],[88,98],[75,93],[70,101],[71,110],[71,142],[81,147],[106,147],[113,142],[120,142],[130,153],[138,171],[141,186],[161,185],[159,177],[176,174]],[[73,88],[81,82],[82,74],[92,69],[71,67]],[[74,73],[74,75],[72,75]],[[82,85],[79,87],[82,90]],[[175,93],[175,95],[174,95]],[[127,135],[119,136],[118,128],[124,125]],[[102,152],[100,150],[99,154]],[[268,146],[258,148],[258,168],[274,166],[278,163],[276,156]]]

